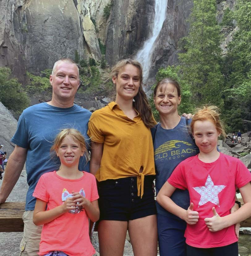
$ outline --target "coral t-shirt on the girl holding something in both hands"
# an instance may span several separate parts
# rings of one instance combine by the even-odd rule
[[[47,210],[62,205],[72,191],[79,192],[89,200],[98,199],[94,175],[83,172],[80,179],[64,179],[56,171],[43,174],[33,196],[47,202]],[[95,254],[89,238],[89,221],[86,211],[77,214],[66,212],[43,225],[39,255],[50,251],[63,251],[70,256],[91,256]]]

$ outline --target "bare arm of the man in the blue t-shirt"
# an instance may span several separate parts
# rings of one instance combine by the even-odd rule
[[[23,170],[23,166],[26,160],[26,155],[21,159],[10,156],[8,164],[5,168],[5,174],[0,190],[0,204],[4,203],[14,188],[19,176]]]

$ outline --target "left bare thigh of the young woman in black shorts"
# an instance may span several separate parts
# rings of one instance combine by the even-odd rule
[[[100,221],[98,225],[100,256],[123,256],[127,227],[127,221]]]

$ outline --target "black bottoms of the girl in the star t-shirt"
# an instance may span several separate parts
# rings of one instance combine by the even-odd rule
[[[187,245],[187,256],[238,256],[238,242],[214,248],[197,248]]]

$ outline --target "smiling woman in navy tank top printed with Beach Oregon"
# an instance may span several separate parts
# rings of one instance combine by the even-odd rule
[[[197,155],[199,150],[188,128],[191,120],[178,114],[178,106],[181,103],[179,84],[171,78],[158,82],[154,89],[154,103],[161,121],[151,129],[156,170],[155,186],[158,194],[175,167],[186,158]],[[171,199],[183,209],[188,209],[187,190],[176,189]],[[166,211],[158,203],[156,205],[160,256],[186,256],[186,222]],[[233,208],[232,211],[237,210],[237,204]],[[238,230],[239,227],[236,228]]]

